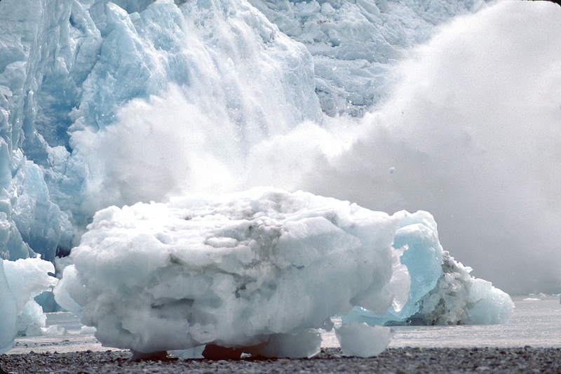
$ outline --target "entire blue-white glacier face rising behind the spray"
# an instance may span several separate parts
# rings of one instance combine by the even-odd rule
[[[159,201],[202,180],[201,190],[227,190],[220,181],[236,184],[253,145],[304,120],[320,123],[322,109],[362,113],[386,90],[389,62],[424,41],[433,25],[478,7],[252,5],[2,1],[4,258],[29,249],[47,260],[67,253],[93,213],[112,203]],[[176,88],[168,91],[170,84]],[[127,107],[151,95],[165,102]],[[159,154],[166,148],[169,154]],[[180,171],[173,159],[187,166]],[[203,163],[216,171],[201,170]],[[33,182],[22,191],[24,179]]]

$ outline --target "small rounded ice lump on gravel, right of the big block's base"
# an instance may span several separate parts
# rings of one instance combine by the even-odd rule
[[[372,357],[384,352],[391,341],[390,328],[366,323],[343,324],[335,328],[335,336],[347,356]]]

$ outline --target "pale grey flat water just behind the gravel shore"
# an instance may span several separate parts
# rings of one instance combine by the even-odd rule
[[[561,347],[561,305],[557,295],[513,298],[516,309],[506,325],[397,327],[390,347]],[[81,334],[76,316],[50,313],[47,325],[62,325],[66,335],[22,337],[7,353],[105,350],[93,334]],[[323,335],[323,347],[338,347],[333,332]]]

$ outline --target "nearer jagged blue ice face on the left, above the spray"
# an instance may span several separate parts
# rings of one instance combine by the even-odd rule
[[[147,99],[169,84],[181,86],[191,110],[174,123],[173,131],[191,134],[198,128],[212,133],[205,126],[213,127],[234,139],[234,149],[222,155],[229,158],[243,154],[236,144],[243,148],[304,119],[320,120],[311,56],[249,4],[215,1],[183,4],[180,10],[173,1],[152,3],[0,4],[5,227],[7,232],[17,227],[23,236],[23,243],[17,237],[9,243],[14,258],[25,255],[25,244],[48,260],[58,246],[69,251],[68,236],[80,232],[97,208],[177,193],[177,185],[164,192],[131,192],[140,173],[128,179],[120,169],[104,174],[105,161],[91,154],[100,147],[95,141],[108,137],[104,131],[116,121],[118,109],[133,98]],[[266,105],[262,97],[268,98]],[[145,135],[138,136],[142,140]],[[166,140],[158,149],[165,148]],[[156,181],[170,170],[170,163],[166,157],[150,165],[161,169]],[[22,176],[15,179],[18,172]],[[25,178],[33,179],[33,185],[18,191],[25,196],[14,197],[10,184],[22,189]],[[107,186],[111,178],[117,181]],[[94,203],[97,199],[103,200]],[[36,201],[46,206],[35,209]],[[30,218],[12,217],[20,211]],[[39,222],[46,227],[36,227]]]

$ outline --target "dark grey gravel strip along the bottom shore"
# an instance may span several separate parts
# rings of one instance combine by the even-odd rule
[[[322,349],[312,359],[133,361],[128,351],[1,354],[5,373],[561,373],[561,348],[390,348],[370,359]],[[1,371],[0,371],[1,373]]]

